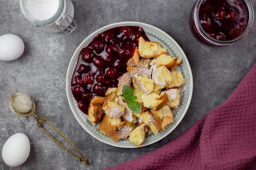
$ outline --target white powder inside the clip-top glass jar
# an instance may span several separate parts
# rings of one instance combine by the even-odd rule
[[[57,12],[59,0],[27,0],[26,8],[34,20],[45,21]]]

